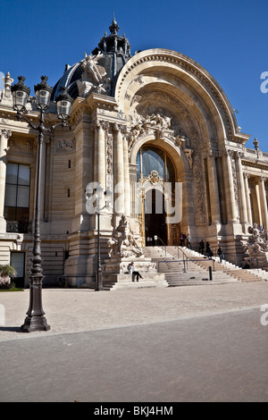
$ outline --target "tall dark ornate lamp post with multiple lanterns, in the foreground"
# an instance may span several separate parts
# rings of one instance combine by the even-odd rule
[[[39,124],[33,124],[26,118],[22,113],[26,111],[26,102],[29,97],[29,88],[24,84],[25,78],[22,76],[18,77],[18,83],[16,83],[11,89],[13,93],[13,109],[17,111],[18,121],[23,120],[29,123],[29,126],[38,131],[38,167],[37,167],[37,186],[36,186],[36,207],[35,207],[35,231],[34,231],[34,242],[33,252],[30,261],[32,268],[29,275],[29,309],[27,317],[23,325],[21,325],[22,332],[33,332],[33,331],[48,331],[50,326],[46,323],[45,312],[42,307],[42,282],[43,282],[43,269],[42,269],[42,257],[41,257],[41,239],[40,239],[40,184],[41,184],[41,156],[44,135],[47,131],[54,130],[58,125],[62,125],[63,128],[67,126],[66,120],[70,116],[71,104],[73,102],[70,95],[65,89],[59,97],[56,98],[58,118],[62,120],[49,128],[45,127],[44,114],[46,109],[49,107],[50,96],[53,88],[48,86],[46,83],[47,77],[41,77],[41,83],[35,86],[36,93],[36,105],[39,110]]]

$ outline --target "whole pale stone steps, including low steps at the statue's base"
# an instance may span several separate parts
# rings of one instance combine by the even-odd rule
[[[107,273],[106,279],[104,276],[104,289],[215,285],[238,281],[268,280],[268,273],[264,270],[242,270],[241,267],[228,261],[222,260],[221,263],[218,257],[214,257],[212,260],[188,248],[180,248],[179,254],[177,247],[167,247],[165,251],[161,247],[148,247],[144,250],[145,260],[149,259],[155,263],[157,272],[155,269],[143,272],[141,264],[138,271],[144,279],[139,279],[138,282],[131,281],[130,274]],[[187,263],[184,261],[186,256]],[[209,267],[212,268],[212,281],[209,280]]]

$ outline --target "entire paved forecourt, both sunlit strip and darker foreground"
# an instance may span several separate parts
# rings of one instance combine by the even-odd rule
[[[109,402],[268,401],[268,282],[45,289],[51,330],[29,334],[29,290],[0,304],[2,402],[87,401],[89,415]]]

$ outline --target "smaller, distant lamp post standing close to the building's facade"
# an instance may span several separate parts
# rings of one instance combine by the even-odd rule
[[[100,228],[99,228],[99,214],[105,207],[109,208],[111,205],[112,191],[108,188],[105,191],[105,206],[100,207],[100,202],[102,200],[104,189],[101,184],[98,183],[96,187],[96,217],[97,217],[97,269],[96,269],[96,290],[104,290],[103,284],[103,271],[101,266],[101,256],[100,256]]]

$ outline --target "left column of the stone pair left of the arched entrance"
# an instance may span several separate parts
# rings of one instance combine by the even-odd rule
[[[94,159],[94,181],[99,182],[101,187],[106,189],[106,158],[105,158],[105,122],[96,122],[95,125],[95,159]],[[99,202],[99,206],[105,206],[105,195]]]

